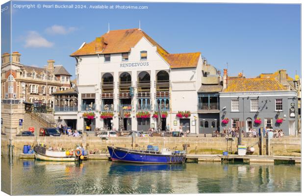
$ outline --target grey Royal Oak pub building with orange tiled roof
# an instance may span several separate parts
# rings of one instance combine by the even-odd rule
[[[275,78],[234,78],[225,75],[220,93],[220,128],[241,130],[282,129],[284,135],[298,133],[297,91],[286,90]],[[227,124],[222,121],[228,118]],[[261,123],[254,123],[260,119]],[[282,123],[277,123],[282,119]]]

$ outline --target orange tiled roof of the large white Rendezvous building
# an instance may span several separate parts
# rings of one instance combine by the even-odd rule
[[[171,68],[197,66],[200,52],[170,54],[139,28],[109,31],[93,42],[85,44],[71,56],[129,52],[142,37],[157,47],[157,52],[169,63]]]

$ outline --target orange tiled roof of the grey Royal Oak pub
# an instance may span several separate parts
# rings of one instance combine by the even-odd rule
[[[275,78],[238,78],[228,79],[223,92],[283,91],[286,88]]]

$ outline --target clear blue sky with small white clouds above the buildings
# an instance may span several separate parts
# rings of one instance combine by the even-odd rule
[[[13,1],[29,4],[30,1]],[[286,69],[300,74],[299,4],[37,2],[33,4],[144,5],[145,10],[31,8],[12,10],[12,50],[25,65],[48,59],[73,75],[69,55],[110,29],[138,27],[170,53],[202,52],[223,73],[246,77]],[[2,51],[3,53],[3,51]]]

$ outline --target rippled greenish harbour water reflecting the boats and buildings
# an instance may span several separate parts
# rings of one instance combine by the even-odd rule
[[[12,160],[13,195],[300,192],[301,165]],[[2,191],[9,159],[1,157]]]

